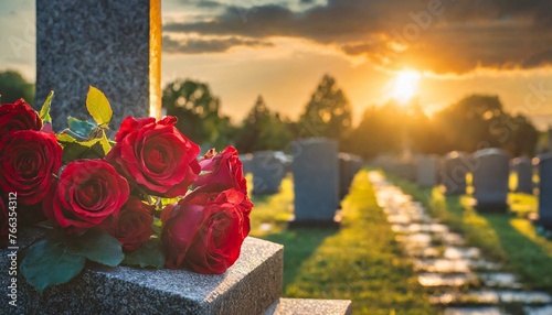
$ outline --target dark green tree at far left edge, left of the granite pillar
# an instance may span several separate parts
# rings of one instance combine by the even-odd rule
[[[34,85],[28,83],[18,72],[7,70],[0,73],[0,101],[14,102],[24,98],[34,108]]]

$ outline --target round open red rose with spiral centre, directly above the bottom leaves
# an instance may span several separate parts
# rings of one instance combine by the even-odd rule
[[[127,181],[107,162],[76,160],[63,170],[43,210],[62,228],[78,232],[116,217],[128,196]]]

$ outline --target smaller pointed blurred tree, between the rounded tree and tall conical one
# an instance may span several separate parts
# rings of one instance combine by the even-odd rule
[[[278,113],[272,113],[263,97],[258,96],[236,132],[236,149],[243,153],[283,150],[291,140],[289,124]]]

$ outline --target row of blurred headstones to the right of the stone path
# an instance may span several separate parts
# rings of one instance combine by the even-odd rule
[[[474,154],[449,152],[443,159],[436,155],[418,156],[415,162],[378,159],[376,164],[397,176],[431,187],[442,184],[446,195],[466,193],[466,175],[471,173],[474,197],[481,210],[506,210],[510,172],[517,175],[514,192],[539,192],[539,225],[552,229],[552,153],[535,159],[516,158],[500,149],[482,149]],[[533,174],[539,176],[533,181]]]

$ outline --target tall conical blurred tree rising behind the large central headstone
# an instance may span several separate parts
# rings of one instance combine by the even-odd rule
[[[344,140],[351,129],[351,105],[336,79],[325,75],[299,119],[299,137]]]

